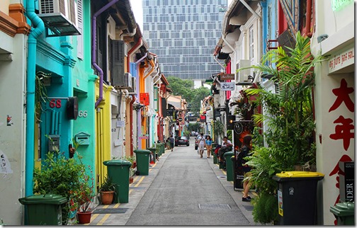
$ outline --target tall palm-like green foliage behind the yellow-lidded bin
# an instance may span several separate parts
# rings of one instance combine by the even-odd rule
[[[320,57],[312,58],[310,39],[297,33],[295,48],[282,47],[271,50],[263,57],[262,64],[252,66],[262,74],[271,75],[276,91],[247,89],[248,96],[256,96],[256,105],[264,107],[263,114],[253,115],[254,122],[264,121],[267,130],[259,136],[254,130],[254,154],[247,164],[251,166],[249,179],[259,189],[255,198],[254,221],[264,224],[276,223],[278,205],[276,181],[272,177],[281,171],[291,171],[296,164],[315,164],[314,119],[312,88],[313,67]],[[273,65],[266,65],[272,62]],[[274,65],[275,64],[275,65]],[[242,70],[242,69],[239,69]],[[264,147],[263,140],[268,144]]]

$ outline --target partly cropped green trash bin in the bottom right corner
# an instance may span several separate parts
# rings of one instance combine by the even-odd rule
[[[354,226],[354,202],[336,203],[330,212],[336,217],[337,225]]]

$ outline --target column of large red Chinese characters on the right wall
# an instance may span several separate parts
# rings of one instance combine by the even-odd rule
[[[329,196],[329,203],[339,203],[340,195],[340,178],[341,170],[339,169],[340,161],[353,161],[354,151],[354,84],[351,79],[341,78],[339,84],[335,84],[332,87],[329,94],[326,94],[326,98],[329,98],[331,105],[328,107],[329,118],[331,121],[329,127],[323,127],[325,130],[329,130],[328,138],[332,142],[324,142],[324,150],[322,156],[326,161],[327,156],[331,163],[324,165],[324,170],[329,173],[329,176],[336,176],[335,182],[329,182],[324,184],[324,198]],[[334,79],[330,79],[335,82]],[[349,82],[349,84],[348,84]],[[322,131],[324,135],[324,131]],[[320,141],[321,143],[321,141]],[[329,149],[327,149],[329,148]],[[325,162],[326,163],[326,162]],[[331,198],[332,197],[332,198]],[[326,199],[327,200],[327,199]],[[333,201],[331,201],[333,200]],[[334,220],[336,224],[336,220]]]

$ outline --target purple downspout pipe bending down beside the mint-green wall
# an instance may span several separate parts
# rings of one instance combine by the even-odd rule
[[[96,108],[98,107],[99,103],[103,100],[103,69],[96,64],[96,18],[101,15],[104,11],[106,11],[108,8],[113,6],[115,3],[117,3],[119,0],[112,0],[105,6],[103,6],[101,9],[96,11],[94,13],[94,16],[92,17],[92,65],[94,69],[96,69],[99,72],[99,98],[96,101]]]

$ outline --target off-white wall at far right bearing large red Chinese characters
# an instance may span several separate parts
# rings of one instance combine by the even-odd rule
[[[354,63],[346,61],[339,64],[340,72],[335,69],[329,69],[331,60],[340,58],[344,50],[352,50],[354,47],[354,8],[349,4],[341,11],[332,11],[331,1],[317,0],[316,2],[316,30],[312,37],[312,53],[317,55],[320,51],[325,57],[321,64],[315,67],[316,74],[316,92],[315,92],[315,110],[316,110],[316,142],[317,142],[317,171],[324,173],[322,180],[322,189],[319,190],[319,197],[323,197],[322,215],[323,224],[334,224],[334,215],[329,212],[331,205],[334,205],[339,197],[339,188],[336,188],[338,173],[334,173],[334,168],[342,156],[349,156],[355,160],[355,139],[331,139],[331,135],[338,132],[341,123],[340,117],[352,121],[350,131],[354,135],[355,125],[355,81],[354,81]],[[328,38],[322,42],[317,42],[319,35],[327,34]],[[353,51],[354,58],[354,51]],[[341,59],[340,59],[341,60]],[[341,73],[344,72],[344,73]],[[331,74],[334,73],[334,74]],[[336,101],[337,96],[334,89],[339,89],[341,83],[346,81],[347,87],[355,91],[348,93],[346,98],[353,102],[353,111],[346,108],[346,103],[342,102],[336,110],[330,110]],[[344,89],[346,95],[347,89]],[[337,121],[337,122],[336,122]],[[344,147],[345,141],[345,147]],[[347,147],[348,145],[348,147]]]

